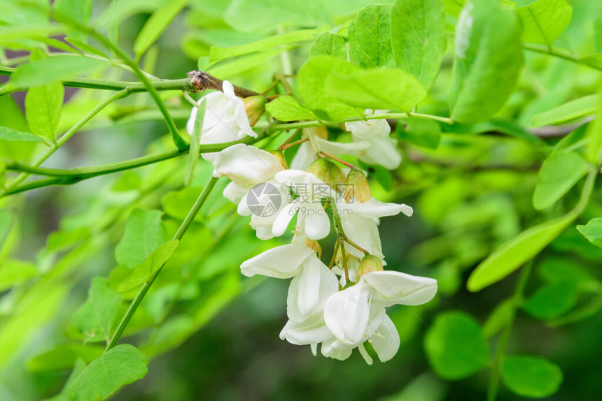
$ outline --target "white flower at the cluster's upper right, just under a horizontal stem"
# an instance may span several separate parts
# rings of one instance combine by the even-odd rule
[[[375,110],[374,114],[384,114],[386,110]],[[372,115],[372,110],[366,110],[366,115]],[[368,119],[365,121],[346,122],[345,129],[351,132],[351,139],[357,145],[367,144],[367,149],[358,155],[359,159],[368,164],[383,166],[388,170],[397,168],[401,163],[401,155],[395,145],[395,140],[388,137],[391,126],[386,119]]]

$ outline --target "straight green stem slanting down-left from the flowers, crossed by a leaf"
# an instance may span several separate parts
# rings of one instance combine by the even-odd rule
[[[172,238],[173,240],[182,239],[183,235],[186,233],[186,230],[188,230],[188,227],[195,219],[195,216],[201,209],[202,205],[205,203],[205,201],[207,201],[207,196],[209,196],[209,193],[211,192],[211,189],[214,188],[217,180],[218,179],[216,177],[211,177],[209,179],[209,182],[207,182],[207,185],[205,185],[204,189],[201,191],[201,194],[197,198],[197,201],[195,201],[193,207],[190,209],[188,214],[186,214],[186,218],[184,219],[184,221],[182,221],[182,224],[178,228],[178,231],[176,231],[176,233],[174,234],[174,237]],[[109,344],[107,344],[105,352],[109,351],[109,349],[117,345],[119,339],[123,335],[125,328],[127,327],[127,324],[130,323],[132,316],[134,316],[134,312],[136,312],[136,309],[138,309],[140,302],[142,302],[142,300],[146,296],[146,293],[148,293],[148,290],[151,289],[153,282],[155,282],[155,279],[161,272],[163,266],[165,266],[165,263],[163,263],[159,270],[157,270],[157,272],[155,272],[155,274],[153,274],[150,279],[148,279],[144,284],[142,284],[140,291],[138,291],[136,297],[132,300],[132,303],[130,303],[130,307],[127,308],[123,319],[121,319],[121,321],[119,322],[119,326],[117,326],[113,337],[111,337]]]

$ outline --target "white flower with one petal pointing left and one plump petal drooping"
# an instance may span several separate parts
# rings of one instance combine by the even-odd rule
[[[294,277],[288,287],[286,311],[288,319],[297,323],[321,315],[328,297],[339,289],[337,276],[304,244],[269,249],[245,261],[240,268],[248,277]]]

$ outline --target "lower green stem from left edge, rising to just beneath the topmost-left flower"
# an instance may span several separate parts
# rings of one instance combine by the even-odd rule
[[[258,133],[257,138],[248,136],[242,140],[235,140],[232,142],[200,145],[199,150],[200,153],[220,152],[226,147],[237,145],[238,143],[250,144],[258,142],[259,140],[265,138],[265,136],[266,135],[264,131],[262,133]],[[0,193],[0,198],[2,196],[19,194],[20,192],[31,191],[32,189],[38,189],[43,187],[50,187],[52,185],[76,184],[80,181],[88,180],[93,177],[99,177],[101,175],[107,175],[111,173],[118,173],[119,171],[131,170],[133,168],[148,166],[149,164],[158,163],[160,161],[174,159],[176,157],[182,156],[183,154],[188,154],[188,150],[181,152],[179,150],[174,149],[159,154],[142,156],[137,159],[105,164],[104,166],[75,168],[73,170],[62,170],[58,168],[38,168],[37,166],[22,166],[18,163],[8,163],[8,170],[24,172],[19,177],[23,175],[27,177],[29,174],[46,175],[48,177],[43,178],[41,180],[36,180],[34,182],[28,182],[27,184],[23,184],[19,187],[15,187],[15,185],[13,185],[13,183],[11,182],[10,187],[6,187],[6,189]]]

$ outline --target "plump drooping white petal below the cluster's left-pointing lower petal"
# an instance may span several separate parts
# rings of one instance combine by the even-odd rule
[[[309,256],[288,287],[288,319],[304,321],[321,311],[329,296],[339,289],[337,277],[315,254]]]

